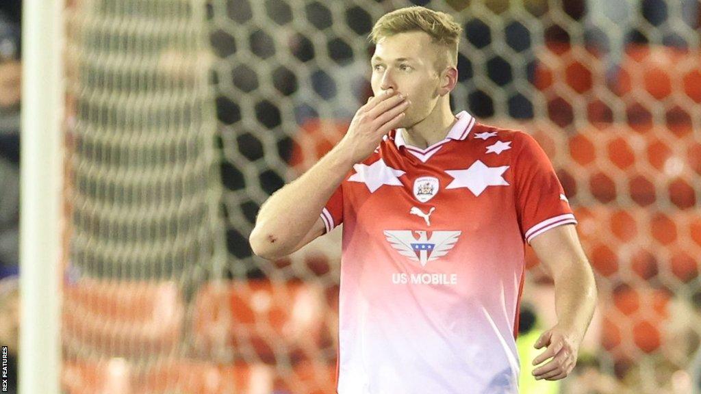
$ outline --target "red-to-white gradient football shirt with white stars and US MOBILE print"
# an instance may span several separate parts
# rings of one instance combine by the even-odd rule
[[[344,224],[339,394],[518,392],[525,243],[576,220],[532,137],[456,117],[426,149],[390,132],[322,211]]]

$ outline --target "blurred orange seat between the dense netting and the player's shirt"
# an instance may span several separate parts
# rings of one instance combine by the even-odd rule
[[[212,283],[197,296],[196,346],[200,353],[226,348],[246,360],[268,363],[280,355],[307,358],[333,345],[333,314],[325,299],[322,286],[308,283]]]

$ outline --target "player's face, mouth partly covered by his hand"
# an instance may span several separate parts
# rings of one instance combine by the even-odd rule
[[[411,100],[400,128],[422,121],[438,102],[439,50],[425,32],[395,34],[377,43],[371,60],[373,94],[393,88]]]

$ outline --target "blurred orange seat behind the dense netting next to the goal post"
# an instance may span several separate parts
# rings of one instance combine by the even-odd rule
[[[81,279],[64,287],[62,343],[71,355],[138,358],[175,350],[184,308],[173,282]]]

